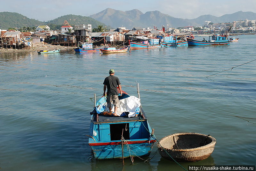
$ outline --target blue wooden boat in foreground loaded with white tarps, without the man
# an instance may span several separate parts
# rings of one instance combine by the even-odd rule
[[[125,108],[124,110],[129,111],[122,114],[117,111],[119,117],[106,111],[108,108],[105,96],[94,101],[95,107],[90,113],[90,135],[87,135],[94,157],[114,159],[149,156],[156,138],[153,136],[154,129],[150,128],[148,118],[140,106],[140,99],[124,91],[120,96],[119,89],[118,92],[120,110]],[[94,99],[95,97],[94,94]]]

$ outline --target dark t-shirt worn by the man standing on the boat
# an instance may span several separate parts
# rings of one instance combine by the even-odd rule
[[[107,85],[107,95],[118,95],[117,86],[121,84],[119,78],[110,75],[105,78],[103,84]]]

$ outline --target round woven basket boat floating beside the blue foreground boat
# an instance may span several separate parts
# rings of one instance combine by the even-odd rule
[[[165,159],[191,162],[207,159],[212,154],[215,144],[216,139],[210,135],[180,132],[160,139],[157,147]]]

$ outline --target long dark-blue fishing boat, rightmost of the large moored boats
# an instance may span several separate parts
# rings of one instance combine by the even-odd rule
[[[212,40],[210,40],[212,38]],[[227,35],[210,35],[209,40],[205,40],[203,37],[202,41],[197,41],[195,39],[187,39],[188,46],[205,46],[205,45],[228,45],[230,41]]]

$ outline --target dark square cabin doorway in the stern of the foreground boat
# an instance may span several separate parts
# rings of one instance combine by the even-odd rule
[[[122,132],[124,139],[130,139],[129,123],[110,124],[110,140],[121,140]]]

